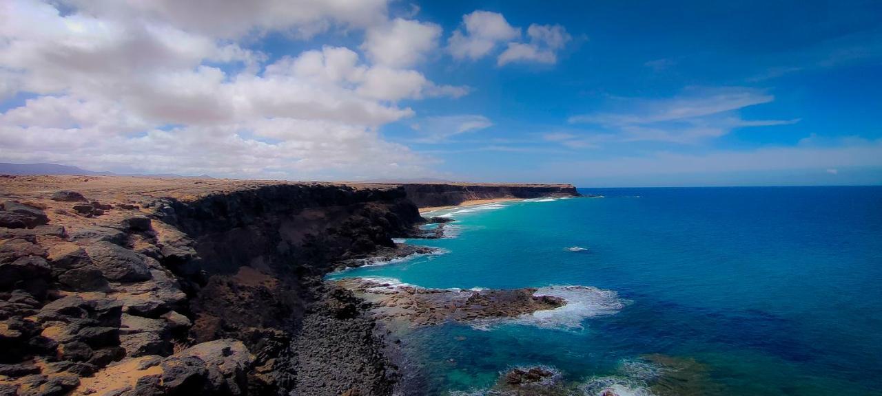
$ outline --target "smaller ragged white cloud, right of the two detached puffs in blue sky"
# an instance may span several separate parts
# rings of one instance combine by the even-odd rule
[[[566,33],[564,26],[530,25],[527,28],[530,37],[528,43],[510,42],[502,54],[497,57],[497,65],[503,66],[511,62],[557,63],[557,51],[572,37]]]

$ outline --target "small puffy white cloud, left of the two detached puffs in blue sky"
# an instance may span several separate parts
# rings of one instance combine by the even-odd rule
[[[462,26],[447,41],[447,50],[456,59],[479,59],[498,44],[520,37],[520,29],[508,24],[502,14],[474,11],[462,16]]]

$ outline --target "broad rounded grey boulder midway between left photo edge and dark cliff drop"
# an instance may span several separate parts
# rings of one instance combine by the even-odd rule
[[[96,242],[86,253],[104,277],[114,282],[141,282],[153,277],[145,256],[110,242]]]

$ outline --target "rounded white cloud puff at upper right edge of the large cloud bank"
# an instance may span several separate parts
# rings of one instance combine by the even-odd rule
[[[388,25],[371,28],[362,48],[368,58],[390,67],[413,66],[437,48],[441,26],[428,22],[395,18]]]

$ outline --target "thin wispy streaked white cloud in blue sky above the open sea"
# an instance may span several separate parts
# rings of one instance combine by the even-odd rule
[[[744,120],[737,110],[774,100],[762,90],[744,87],[690,88],[667,99],[616,99],[617,110],[570,117],[617,134],[624,142],[694,144],[724,136],[735,128],[793,124],[793,120]]]

